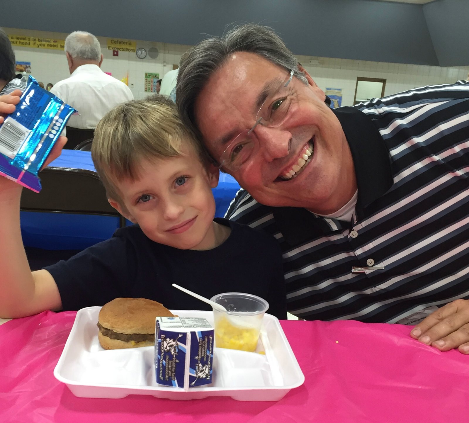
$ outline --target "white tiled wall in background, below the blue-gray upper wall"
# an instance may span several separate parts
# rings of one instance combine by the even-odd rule
[[[31,37],[47,37],[65,39],[68,34],[22,30],[3,27],[7,34],[26,35]],[[107,50],[106,38],[98,37],[104,54],[102,69],[112,72],[118,79],[129,74],[129,88],[135,98],[144,98],[145,72],[159,73],[162,77],[173,64],[179,64],[182,53],[189,45],[167,44],[150,41],[137,41],[137,48],[148,49],[157,47],[157,59],[147,57],[138,59],[135,53],[119,52],[118,57]],[[44,84],[56,83],[69,76],[65,53],[56,50],[32,49],[15,46],[16,60],[30,61],[32,75]],[[438,66],[410,65],[402,63],[383,63],[364,60],[335,59],[327,57],[298,56],[298,60],[310,73],[318,86],[342,89],[342,106],[351,106],[355,95],[356,78],[370,77],[386,79],[385,95],[394,94],[412,88],[442,83],[452,83],[459,79],[467,79],[469,67],[440,68]],[[310,60],[319,60],[319,64],[310,65]]]

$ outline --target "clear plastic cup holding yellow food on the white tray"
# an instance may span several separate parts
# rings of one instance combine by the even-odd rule
[[[263,298],[242,292],[226,292],[211,298],[227,311],[213,309],[215,346],[254,351],[269,303]]]

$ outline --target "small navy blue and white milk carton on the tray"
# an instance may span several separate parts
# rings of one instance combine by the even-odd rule
[[[214,335],[201,317],[157,317],[156,382],[189,387],[212,383]]]

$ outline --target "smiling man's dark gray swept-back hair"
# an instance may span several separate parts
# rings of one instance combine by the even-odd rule
[[[295,76],[307,83],[298,60],[272,28],[247,23],[236,26],[222,37],[208,38],[182,55],[176,86],[176,104],[184,124],[203,140],[195,121],[195,103],[209,78],[231,54],[255,53],[278,65],[295,70]]]

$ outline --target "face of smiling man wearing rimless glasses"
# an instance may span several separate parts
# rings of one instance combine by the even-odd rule
[[[353,161],[324,92],[304,77],[308,85],[257,54],[236,52],[200,92],[195,121],[212,156],[259,203],[330,213],[356,191]]]

